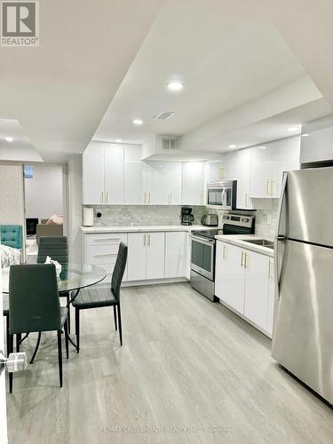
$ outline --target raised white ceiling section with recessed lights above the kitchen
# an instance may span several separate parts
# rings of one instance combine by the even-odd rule
[[[225,117],[235,110],[240,114],[242,109],[243,115],[246,111],[246,124],[244,119],[240,122],[225,119],[229,122],[221,125],[223,130],[219,134],[211,132],[210,138],[201,140],[203,143],[198,144],[194,137],[185,137],[191,140],[186,149],[219,150],[226,143],[225,134],[227,136],[230,131],[234,131],[234,137],[239,130],[240,139],[249,139],[251,143],[289,135],[287,128],[281,131],[281,125],[274,126],[271,119],[268,121],[272,124],[271,131],[264,125],[265,131],[258,132],[257,139],[254,137],[263,128],[256,123],[273,115],[271,95],[303,82],[298,101],[289,99],[290,91],[291,96],[295,96],[290,87],[283,104],[280,97],[275,98],[280,106],[275,114],[280,114],[303,106],[306,101],[320,99],[321,92],[307,77],[272,22],[267,20],[266,11],[256,6],[256,2],[245,0],[167,1],[94,139],[142,143],[149,134],[191,135],[205,123],[211,130],[210,122],[217,116]],[[184,83],[183,91],[170,93],[166,89],[166,84],[174,80]],[[254,107],[250,110],[250,103],[266,97],[266,114],[258,115]],[[331,112],[326,103],[321,105],[315,107],[318,117]],[[166,121],[152,119],[163,111],[176,114]],[[317,117],[315,113],[312,115]],[[297,123],[304,120],[297,112],[292,117]],[[134,126],[133,118],[141,118],[144,125]],[[254,126],[250,127],[249,123]],[[291,123],[286,122],[287,127]]]

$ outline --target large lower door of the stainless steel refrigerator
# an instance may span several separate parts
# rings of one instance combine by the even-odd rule
[[[279,242],[279,249],[280,243],[272,356],[333,403],[333,249],[294,241]]]

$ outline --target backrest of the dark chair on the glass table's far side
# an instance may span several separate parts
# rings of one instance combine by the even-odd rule
[[[47,256],[57,260],[59,264],[68,264],[68,242],[66,236],[41,237],[38,246],[37,263],[44,264]]]

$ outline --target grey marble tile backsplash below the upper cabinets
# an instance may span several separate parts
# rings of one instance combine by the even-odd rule
[[[269,209],[256,211],[256,234],[263,237],[274,237],[278,199],[272,199]],[[94,226],[161,226],[179,225],[180,209],[178,205],[113,205],[92,206]],[[97,217],[97,212],[101,217]],[[218,213],[219,224],[222,222],[224,211],[217,211],[204,206],[192,207],[194,225],[200,224],[202,214]],[[242,212],[244,211],[234,211]],[[253,214],[249,212],[249,214]]]

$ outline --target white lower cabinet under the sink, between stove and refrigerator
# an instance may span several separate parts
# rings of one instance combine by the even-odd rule
[[[274,261],[266,255],[217,242],[215,294],[272,335]]]

